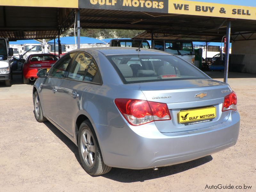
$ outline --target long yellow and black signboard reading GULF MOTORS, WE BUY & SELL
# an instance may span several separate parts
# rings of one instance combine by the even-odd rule
[[[256,7],[189,0],[0,0],[0,5],[161,12],[256,20]]]

